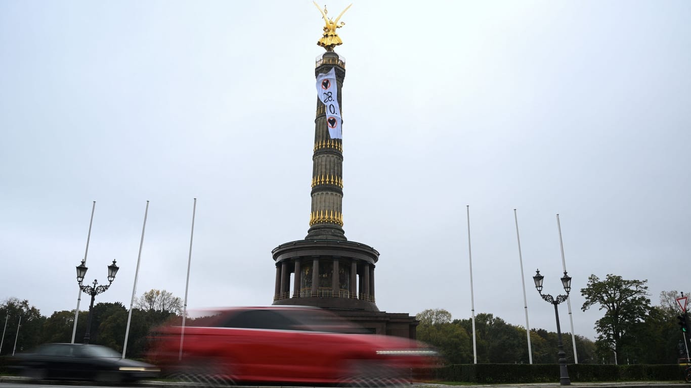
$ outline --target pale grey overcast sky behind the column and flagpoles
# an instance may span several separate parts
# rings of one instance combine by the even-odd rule
[[[320,5],[323,1],[320,1]],[[329,1],[336,17],[348,1]],[[591,274],[689,289],[689,1],[357,1],[339,29],[343,214],[375,247],[377,306],[475,312],[556,329],[533,287],[563,293],[574,330]],[[271,251],[310,218],[311,1],[0,0],[0,299],[75,309],[184,296],[266,305]],[[86,302],[85,302],[86,300]],[[88,309],[88,297],[82,300]],[[562,328],[571,331],[567,307]]]

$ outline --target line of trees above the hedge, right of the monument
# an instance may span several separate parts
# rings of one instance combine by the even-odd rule
[[[663,291],[660,304],[652,306],[646,282],[611,274],[604,279],[590,275],[587,287],[580,290],[585,297],[581,310],[598,307],[603,318],[594,322],[595,341],[576,335],[579,364],[675,364],[686,356],[676,302],[683,293]],[[417,319],[417,338],[435,345],[448,363],[473,363],[470,318],[452,320],[444,309],[427,309]],[[562,333],[562,341],[567,362],[572,364],[571,333]],[[525,328],[491,313],[475,316],[475,342],[478,363],[529,363]],[[558,362],[557,333],[531,329],[530,342],[533,364]]]

